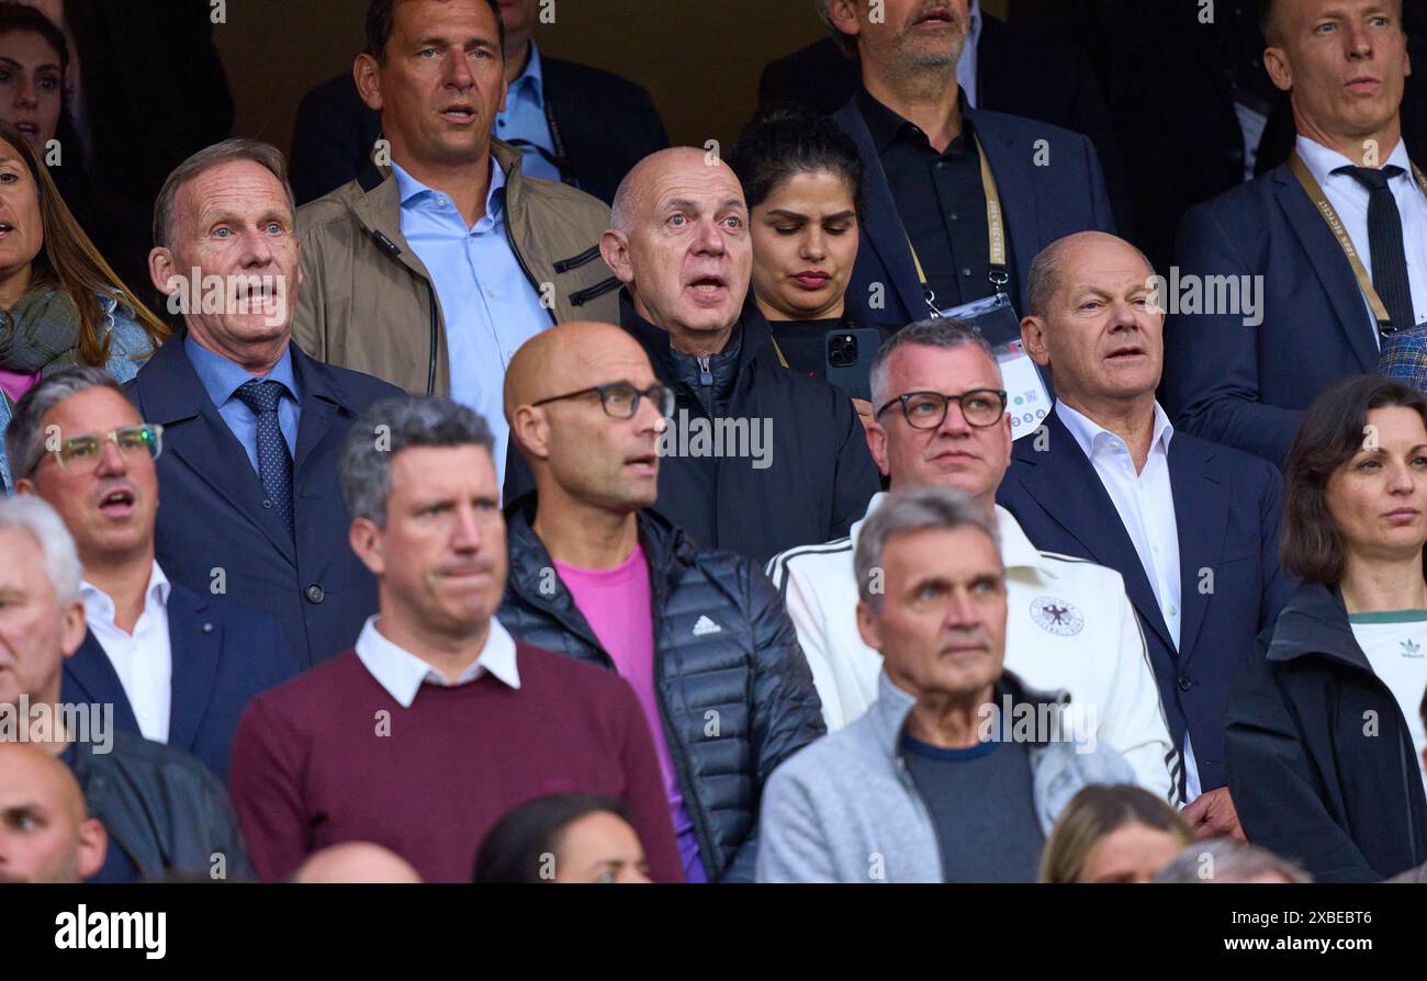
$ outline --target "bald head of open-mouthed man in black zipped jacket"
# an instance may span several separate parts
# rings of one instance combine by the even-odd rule
[[[743,185],[728,164],[694,147],[641,160],[619,184],[599,251],[635,312],[676,349],[723,349],[753,268]]]

